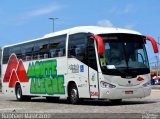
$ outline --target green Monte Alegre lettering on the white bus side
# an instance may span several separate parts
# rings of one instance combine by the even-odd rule
[[[27,77],[32,94],[65,94],[64,75],[57,75],[56,60],[30,62]]]

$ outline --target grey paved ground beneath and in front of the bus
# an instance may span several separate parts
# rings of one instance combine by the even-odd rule
[[[68,104],[65,100],[47,102],[45,98],[33,98],[30,102],[18,102],[15,97],[0,94],[0,113],[160,113],[160,90],[152,90],[143,99],[125,99],[121,104],[109,101],[86,100],[79,105]],[[153,116],[153,115],[152,115]],[[159,114],[160,118],[160,114]]]

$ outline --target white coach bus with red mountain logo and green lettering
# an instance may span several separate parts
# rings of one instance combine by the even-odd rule
[[[133,30],[79,26],[2,48],[2,91],[18,101],[143,98],[151,93],[145,48]],[[148,43],[148,42],[147,42]]]

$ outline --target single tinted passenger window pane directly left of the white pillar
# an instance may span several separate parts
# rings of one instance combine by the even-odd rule
[[[62,57],[66,54],[66,37],[67,35],[60,35],[50,38],[49,52],[50,57]]]

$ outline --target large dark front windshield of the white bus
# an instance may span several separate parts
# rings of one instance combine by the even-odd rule
[[[105,49],[104,54],[99,56],[103,73],[117,74],[129,71],[131,74],[133,72],[148,73],[149,63],[143,36],[133,34],[102,34],[99,36],[104,40]]]

